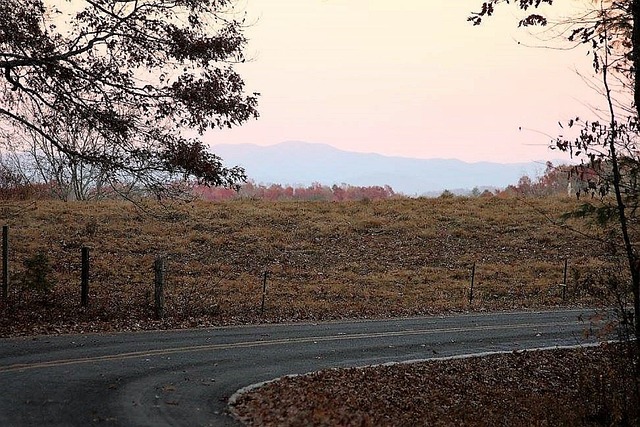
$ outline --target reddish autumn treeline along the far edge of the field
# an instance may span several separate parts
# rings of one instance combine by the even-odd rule
[[[136,188],[135,184],[121,183],[117,185],[102,186],[100,181],[81,182],[83,185],[75,185],[82,192],[69,191],[70,185],[61,180],[50,179],[47,182],[33,181],[25,174],[7,167],[0,162],[0,200],[32,200],[32,199],[62,199],[62,200],[99,200],[119,199],[123,195],[130,197],[155,197],[152,193],[142,188]],[[554,166],[547,162],[543,175],[537,178],[523,176],[518,183],[509,185],[504,189],[479,190],[477,187],[471,190],[465,197],[518,197],[531,196],[543,197],[551,195],[568,195],[576,197],[579,194],[601,194],[599,176],[589,168],[560,165]],[[396,193],[389,185],[384,186],[354,186],[348,184],[323,185],[313,183],[309,186],[291,186],[280,184],[257,184],[248,181],[242,184],[238,190],[225,187],[208,187],[205,185],[176,182],[175,185],[166,186],[177,198],[200,198],[210,201],[223,201],[233,199],[257,199],[257,200],[323,200],[323,201],[358,201],[358,200],[388,200],[405,198],[403,194]],[[166,193],[168,197],[171,194]],[[437,195],[434,195],[437,197]],[[445,190],[440,197],[456,197]]]

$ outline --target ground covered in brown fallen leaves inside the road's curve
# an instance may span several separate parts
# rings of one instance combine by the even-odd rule
[[[633,368],[619,350],[333,369],[253,389],[232,411],[250,426],[637,425]]]

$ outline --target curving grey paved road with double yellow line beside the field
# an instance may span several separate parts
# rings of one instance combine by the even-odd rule
[[[236,425],[237,389],[286,374],[586,343],[592,311],[0,340],[1,426]]]

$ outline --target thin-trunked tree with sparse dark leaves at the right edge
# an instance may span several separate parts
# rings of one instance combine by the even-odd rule
[[[520,26],[548,25],[547,18],[538,9],[553,0],[518,0],[516,7],[529,11],[519,23]],[[474,25],[480,25],[485,17],[495,13],[499,4],[509,4],[509,0],[490,0],[482,3],[480,11],[468,18]],[[602,77],[603,95],[607,102],[607,118],[585,121],[580,118],[567,122],[568,129],[577,129],[577,135],[559,136],[552,145],[582,157],[582,165],[576,174],[585,170],[597,171],[600,185],[611,187],[613,200],[604,200],[600,205],[586,203],[576,215],[594,214],[603,225],[615,223],[610,230],[607,243],[626,259],[630,286],[623,286],[624,295],[630,288],[633,295],[633,320],[626,313],[621,301],[622,320],[632,325],[638,350],[636,374],[640,373],[640,0],[601,0],[590,2],[592,9],[564,23],[568,40],[588,47],[593,57],[593,67]],[[531,10],[535,10],[530,13]],[[556,24],[557,25],[557,24]],[[622,99],[614,91],[614,83],[620,83],[623,91],[631,92],[631,101]],[[613,287],[618,280],[609,281]]]

